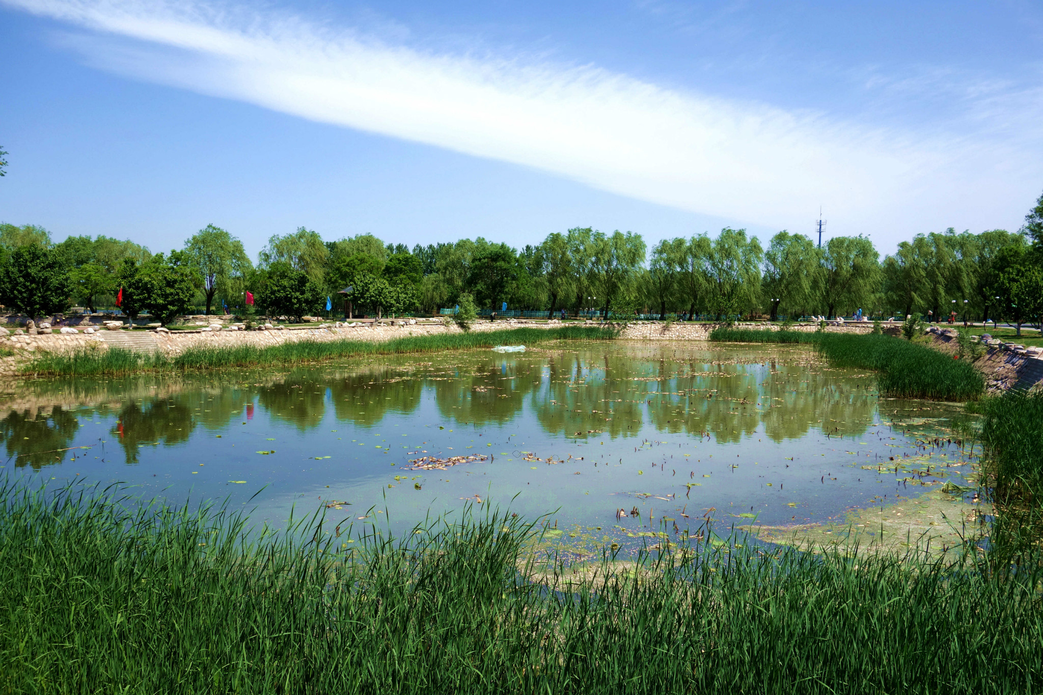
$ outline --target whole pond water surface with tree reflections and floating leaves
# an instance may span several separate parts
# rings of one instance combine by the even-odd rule
[[[256,522],[330,505],[357,529],[403,532],[492,504],[549,514],[591,544],[632,545],[662,523],[695,530],[706,515],[826,522],[930,483],[974,487],[957,447],[924,458],[916,444],[948,431],[962,408],[883,399],[875,386],[803,346],[562,342],[26,380],[0,401],[0,437],[8,476],[227,500]],[[414,463],[460,456],[483,458]]]

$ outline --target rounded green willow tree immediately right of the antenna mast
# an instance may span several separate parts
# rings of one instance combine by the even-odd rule
[[[820,264],[819,297],[826,316],[834,316],[838,306],[868,303],[879,288],[879,254],[867,237],[833,237],[821,249]]]

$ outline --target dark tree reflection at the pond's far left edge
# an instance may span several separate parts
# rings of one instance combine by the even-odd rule
[[[44,466],[65,461],[68,451],[55,451],[72,446],[79,424],[74,413],[60,405],[47,409],[10,411],[0,420],[0,440],[7,457],[15,466]]]

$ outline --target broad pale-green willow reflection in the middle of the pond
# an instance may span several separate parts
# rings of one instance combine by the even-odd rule
[[[548,432],[586,437],[599,430],[613,439],[637,435],[641,407],[634,399],[640,399],[645,387],[635,396],[633,359],[615,353],[584,363],[578,353],[565,352],[551,356],[544,369],[547,387],[534,391],[533,411]]]

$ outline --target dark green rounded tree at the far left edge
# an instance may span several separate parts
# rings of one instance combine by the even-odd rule
[[[0,268],[3,303],[33,319],[64,312],[71,292],[68,267],[54,249],[19,246]]]

